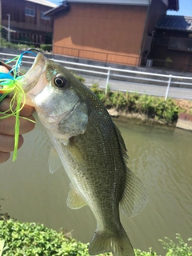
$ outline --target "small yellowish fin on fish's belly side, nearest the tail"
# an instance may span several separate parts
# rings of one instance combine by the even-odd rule
[[[79,209],[86,206],[86,202],[82,199],[73,186],[70,186],[68,198],[66,199],[66,205],[71,209]]]

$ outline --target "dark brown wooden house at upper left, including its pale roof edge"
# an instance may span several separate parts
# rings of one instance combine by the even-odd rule
[[[44,13],[57,5],[47,0],[0,0],[0,6],[2,37],[34,46],[52,43],[53,18]]]

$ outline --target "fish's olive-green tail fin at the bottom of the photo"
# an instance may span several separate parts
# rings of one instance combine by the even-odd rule
[[[112,252],[114,256],[135,256],[133,246],[123,227],[114,236],[99,230],[94,232],[89,254],[98,255],[107,252]]]

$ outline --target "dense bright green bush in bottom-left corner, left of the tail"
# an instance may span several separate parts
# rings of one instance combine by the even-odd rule
[[[88,244],[77,242],[70,235],[35,223],[13,219],[0,221],[0,255],[3,256],[88,256]],[[106,254],[110,255],[110,254]]]

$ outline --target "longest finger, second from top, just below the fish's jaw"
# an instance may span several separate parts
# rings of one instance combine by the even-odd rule
[[[30,120],[34,121],[34,117],[31,115],[29,117]],[[34,129],[34,122],[30,122],[29,120],[19,118],[19,134],[26,134]],[[15,117],[10,116],[9,118],[0,119],[0,134],[5,135],[14,135],[15,134]]]

